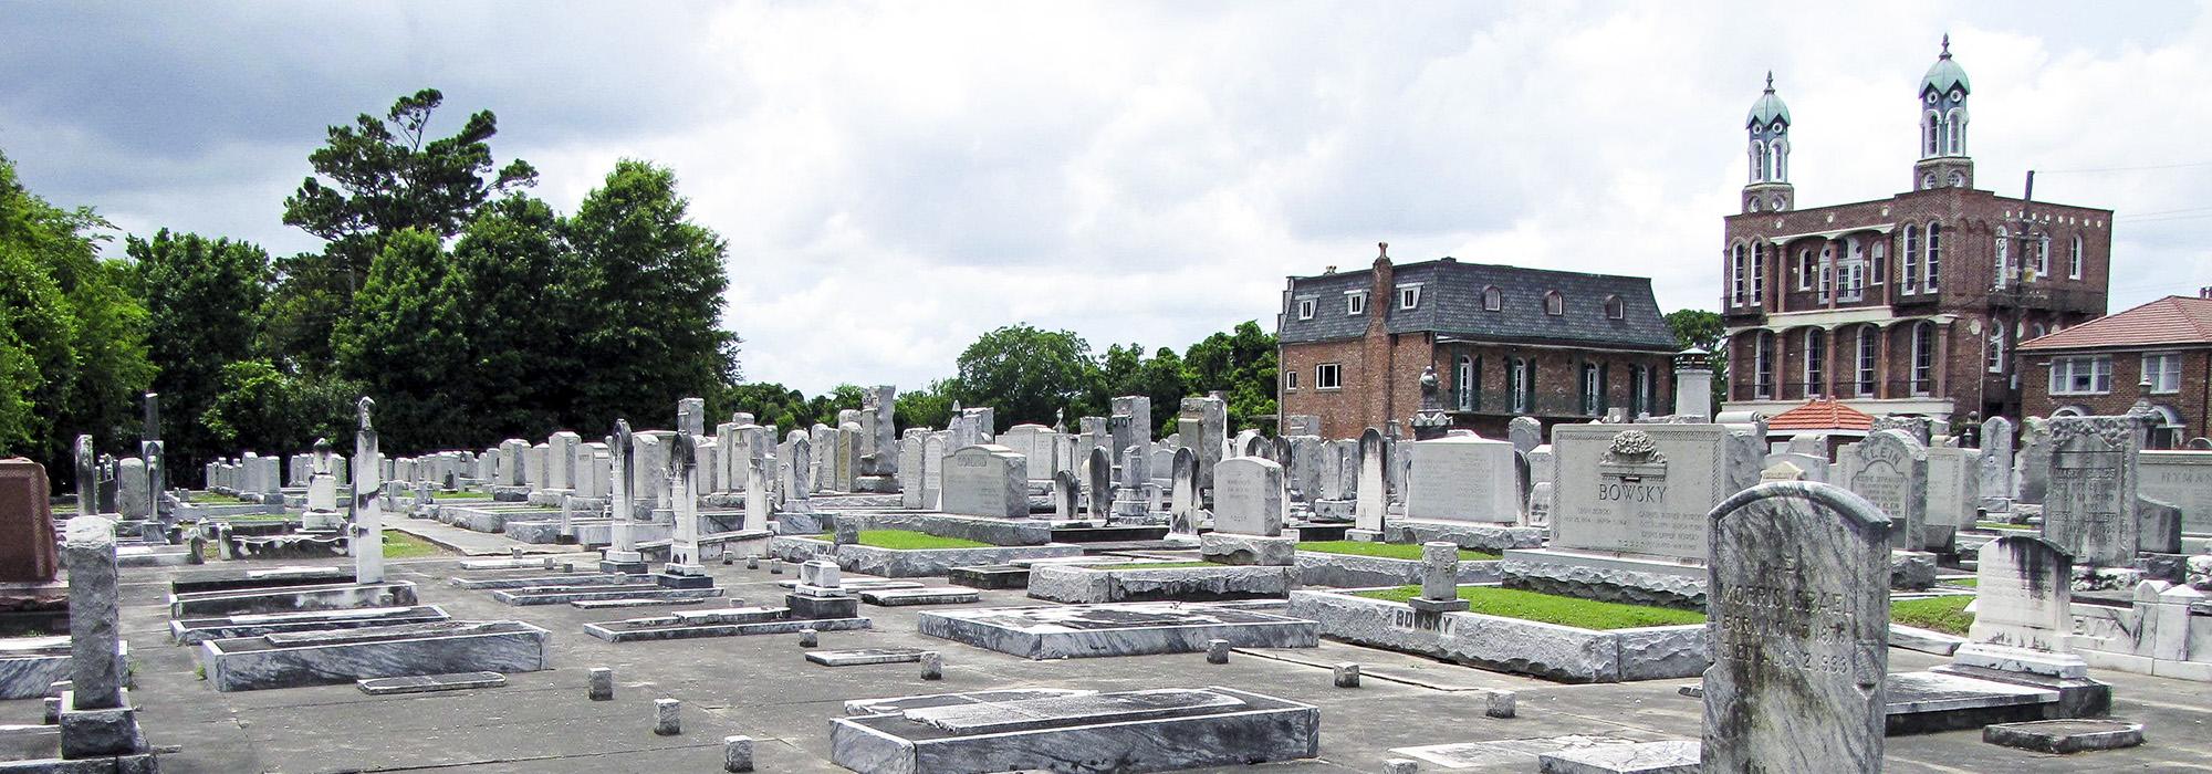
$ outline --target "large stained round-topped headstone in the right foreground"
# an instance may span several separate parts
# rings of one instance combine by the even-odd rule
[[[1708,772],[1882,770],[1889,531],[1829,484],[1759,484],[1712,509]]]

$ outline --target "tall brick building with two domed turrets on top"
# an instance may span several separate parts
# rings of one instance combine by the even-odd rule
[[[1745,117],[1750,184],[1725,219],[1721,318],[1730,411],[1838,398],[1874,416],[2020,416],[2013,349],[2106,310],[2112,210],[1973,188],[1951,42],[1920,80],[1920,159],[1889,199],[1798,208],[1790,108]]]

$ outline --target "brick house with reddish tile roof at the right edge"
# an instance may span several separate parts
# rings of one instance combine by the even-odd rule
[[[2152,449],[2212,436],[2212,287],[2022,343],[2020,358],[2031,416],[2117,416],[2141,398]]]

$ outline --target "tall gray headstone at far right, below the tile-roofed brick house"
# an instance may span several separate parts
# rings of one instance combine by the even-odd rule
[[[2086,566],[2135,562],[2137,453],[2143,425],[2128,416],[2051,418],[2051,489],[2044,537]]]

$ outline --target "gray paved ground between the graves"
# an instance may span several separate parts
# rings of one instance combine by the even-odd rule
[[[507,688],[365,697],[352,686],[219,694],[195,677],[186,648],[166,641],[161,595],[170,568],[126,571],[124,630],[131,639],[146,732],[170,750],[161,770],[190,772],[714,772],[721,736],[757,739],[763,772],[836,772],[830,719],[845,699],[984,688],[1161,688],[1232,686],[1321,705],[1321,759],[1279,765],[1316,772],[1378,772],[1394,747],[1511,741],[1559,734],[1694,739],[1701,705],[1674,692],[1686,681],[1557,686],[1418,657],[1323,644],[1314,650],[1239,652],[1225,666],[1203,655],[1024,661],[914,632],[918,608],[872,608],[869,632],[825,632],[823,648],[922,646],[945,652],[945,681],[918,666],[823,668],[805,663],[796,637],[723,637],[606,644],[584,621],[668,608],[509,608],[489,593],[458,590],[453,559],[396,562],[396,579],[422,586],[425,604],[460,619],[524,619],[553,630],[555,670],[511,674]],[[745,602],[776,602],[770,575],[712,566]],[[1020,593],[984,593],[984,606],[1033,604]],[[717,604],[719,606],[719,604]],[[1360,661],[1365,688],[1329,683],[1329,663]],[[1938,659],[1891,650],[1891,668]],[[584,670],[611,666],[615,701],[584,697]],[[1980,732],[1889,739],[1891,772],[2212,772],[2212,688],[2099,672],[2115,683],[2115,717],[2148,725],[2148,743],[2121,752],[2042,756],[1984,745]],[[1394,681],[1398,679],[1398,681]],[[1484,694],[1520,694],[1517,719],[1482,714]],[[653,699],[684,699],[684,734],[653,734]],[[38,701],[0,701],[0,723],[35,723]],[[1425,763],[1422,770],[1444,770]],[[1533,772],[1533,756],[1491,754],[1467,772]]]

